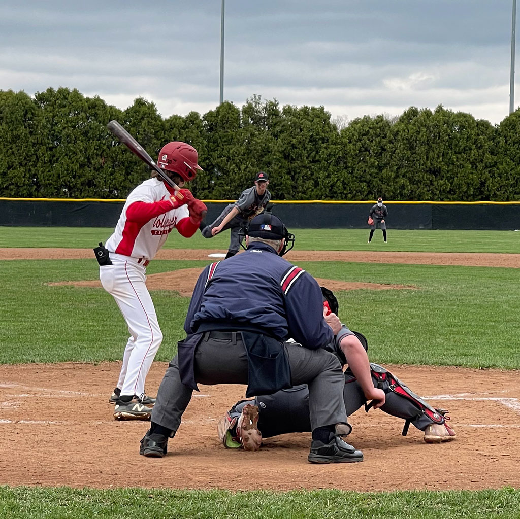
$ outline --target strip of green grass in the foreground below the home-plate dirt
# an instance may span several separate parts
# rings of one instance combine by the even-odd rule
[[[71,489],[0,487],[4,519],[517,519],[520,491]]]

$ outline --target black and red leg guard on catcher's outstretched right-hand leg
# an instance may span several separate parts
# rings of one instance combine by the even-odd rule
[[[416,395],[405,383],[379,364],[370,363],[374,385],[386,393],[381,410],[406,420],[402,435],[406,436],[410,423],[424,431],[433,423],[444,424],[446,409],[436,409]],[[367,404],[366,410],[370,409]]]

